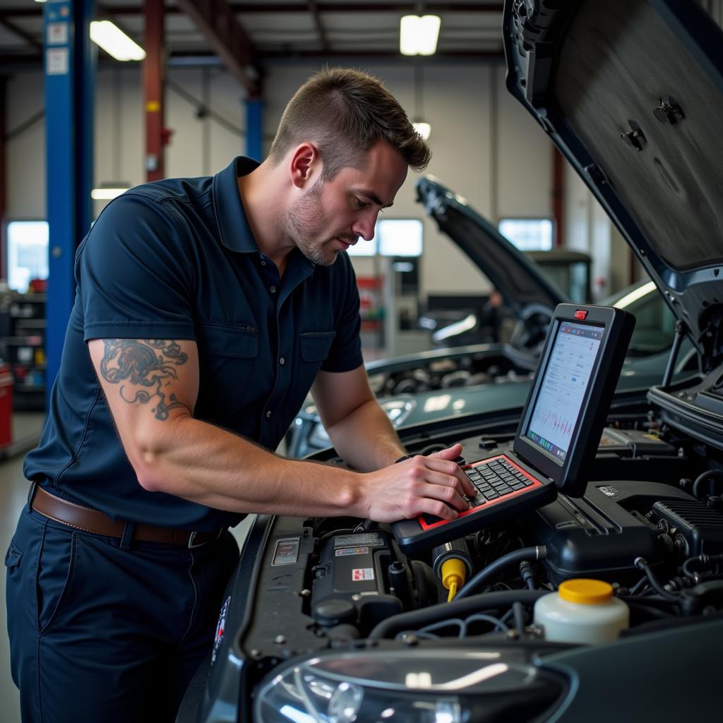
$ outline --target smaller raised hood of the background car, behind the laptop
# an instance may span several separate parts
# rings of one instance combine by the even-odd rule
[[[440,184],[434,176],[416,182],[417,200],[471,262],[502,294],[517,318],[550,312],[568,301],[525,254],[466,200]]]

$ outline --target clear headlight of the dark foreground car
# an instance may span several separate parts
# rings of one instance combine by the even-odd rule
[[[476,723],[498,719],[501,705],[519,714],[521,704],[532,719],[564,687],[523,661],[503,662],[499,652],[338,653],[277,669],[260,685],[254,721]]]

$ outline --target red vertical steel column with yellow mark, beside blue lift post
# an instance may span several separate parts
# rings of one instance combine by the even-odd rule
[[[147,181],[165,177],[163,167],[163,75],[166,49],[163,30],[163,0],[145,0],[145,171]]]

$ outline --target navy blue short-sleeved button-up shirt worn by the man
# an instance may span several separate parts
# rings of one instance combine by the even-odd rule
[[[269,450],[320,369],[362,363],[347,254],[324,267],[294,249],[280,278],[239,196],[237,176],[256,166],[236,158],[213,177],[145,184],[100,214],[77,251],[77,294],[48,421],[25,459],[28,479],[120,520],[214,530],[242,516],[138,484],[90,361],[91,339],[196,341],[194,416]]]

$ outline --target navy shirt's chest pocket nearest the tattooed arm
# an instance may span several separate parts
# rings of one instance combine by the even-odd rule
[[[228,421],[239,411],[259,356],[259,330],[251,324],[205,322],[196,328],[199,389],[195,416]]]

